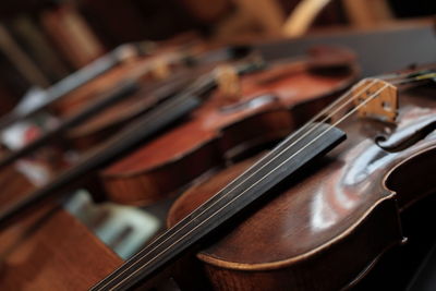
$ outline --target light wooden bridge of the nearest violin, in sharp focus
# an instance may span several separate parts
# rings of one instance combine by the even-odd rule
[[[378,78],[367,78],[354,86],[352,94],[359,117],[396,122],[398,89],[392,84]]]

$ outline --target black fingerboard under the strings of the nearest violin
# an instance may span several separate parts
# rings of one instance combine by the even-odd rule
[[[143,248],[93,290],[125,290],[149,280],[173,259],[253,204],[274,186],[346,138],[327,124],[293,135],[237,180]]]

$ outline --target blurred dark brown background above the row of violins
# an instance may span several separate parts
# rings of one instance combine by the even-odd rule
[[[429,16],[432,0],[3,0],[0,114],[121,44],[258,43]]]

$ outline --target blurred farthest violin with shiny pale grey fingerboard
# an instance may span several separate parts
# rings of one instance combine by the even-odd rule
[[[148,69],[147,78],[161,80],[169,75],[170,70],[208,62],[210,57],[216,60],[240,58],[251,50],[244,46],[217,49],[206,46],[199,39],[186,45],[187,40],[184,37],[159,44],[140,41],[121,45],[45,89],[43,96],[39,96],[44,97],[43,100],[31,98],[31,101],[20,104],[0,119],[0,129],[4,130],[47,110],[57,116],[75,111],[92,96],[106,92],[107,86],[110,87],[130,74],[135,75],[138,69],[144,71],[142,64]]]

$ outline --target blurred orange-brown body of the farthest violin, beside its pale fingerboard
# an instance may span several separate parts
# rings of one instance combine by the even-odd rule
[[[251,53],[249,47],[223,47],[215,50],[207,48],[199,51],[185,51],[179,47],[164,47],[153,54],[143,56],[141,48],[135,46],[121,47],[119,52],[123,62],[92,82],[75,88],[68,96],[57,99],[51,104],[51,109],[64,117],[80,110],[93,96],[98,96],[114,84],[130,78],[140,78],[144,84],[165,81],[172,74],[186,70],[211,65],[220,61],[231,61]]]

